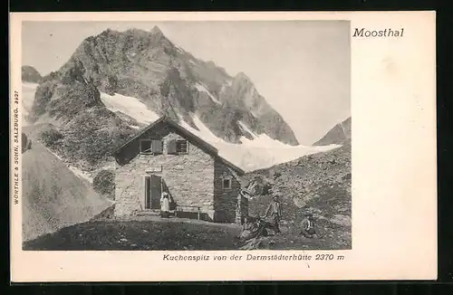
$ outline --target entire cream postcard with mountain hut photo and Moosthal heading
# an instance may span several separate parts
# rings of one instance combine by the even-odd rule
[[[436,280],[435,19],[11,14],[11,281]]]

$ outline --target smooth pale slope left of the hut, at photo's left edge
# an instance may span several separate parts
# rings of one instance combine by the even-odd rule
[[[24,241],[86,222],[111,205],[58,157],[32,140],[32,149],[22,157]]]

